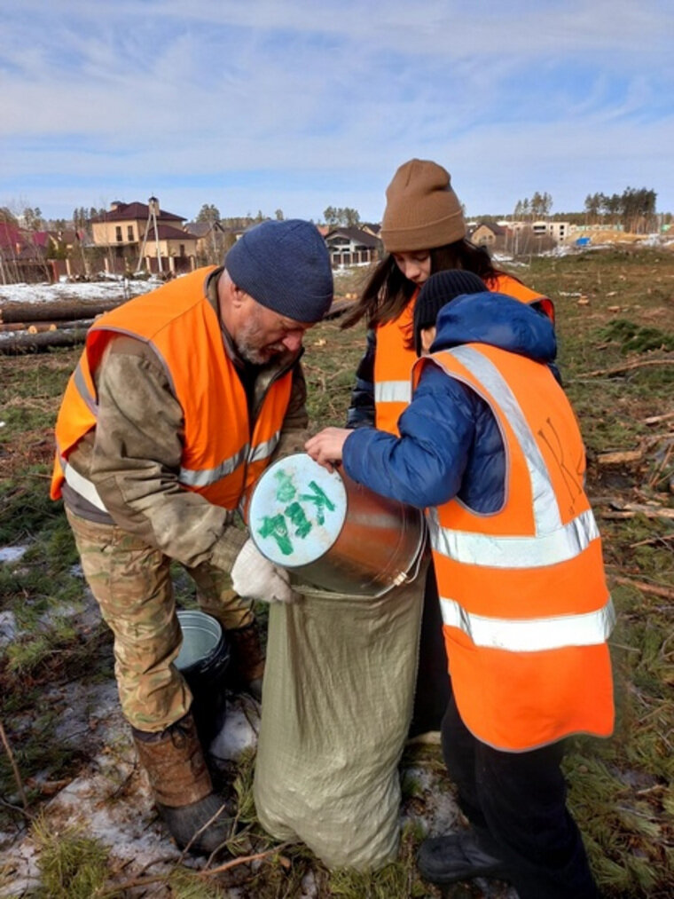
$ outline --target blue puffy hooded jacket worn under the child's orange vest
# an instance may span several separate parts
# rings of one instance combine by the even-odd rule
[[[488,343],[553,366],[552,322],[504,294],[457,297],[443,307],[431,352]],[[419,508],[453,496],[475,512],[501,508],[505,451],[487,403],[436,366],[424,369],[412,403],[398,421],[401,436],[360,427],[343,450],[346,472],[378,494]]]

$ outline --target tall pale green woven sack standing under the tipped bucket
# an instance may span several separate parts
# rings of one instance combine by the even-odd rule
[[[426,564],[379,599],[302,587],[270,609],[254,797],[329,868],[395,859]]]

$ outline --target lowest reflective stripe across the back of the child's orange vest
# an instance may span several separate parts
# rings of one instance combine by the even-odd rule
[[[456,600],[440,596],[442,622],[458,628],[476,646],[510,653],[537,653],[564,646],[591,646],[606,642],[616,624],[610,596],[601,609],[580,615],[554,615],[539,619],[499,619],[475,615]]]

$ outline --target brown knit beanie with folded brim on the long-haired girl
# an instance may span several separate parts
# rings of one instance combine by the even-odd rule
[[[386,188],[381,239],[388,253],[411,253],[453,244],[466,222],[449,173],[428,159],[400,166]]]

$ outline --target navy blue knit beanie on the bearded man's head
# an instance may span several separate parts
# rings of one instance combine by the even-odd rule
[[[323,237],[301,218],[245,231],[225,268],[253,299],[296,322],[319,322],[333,302],[333,270]]]

